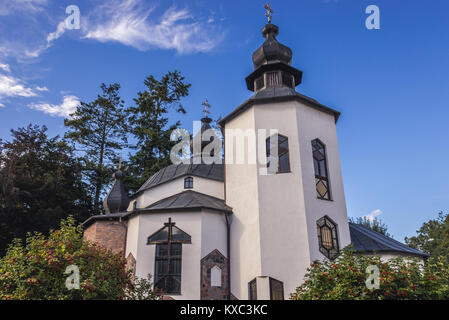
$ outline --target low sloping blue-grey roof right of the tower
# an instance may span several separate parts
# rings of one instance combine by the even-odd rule
[[[398,252],[406,255],[428,257],[427,253],[410,248],[405,244],[379,232],[355,223],[349,223],[351,242],[358,252]]]

